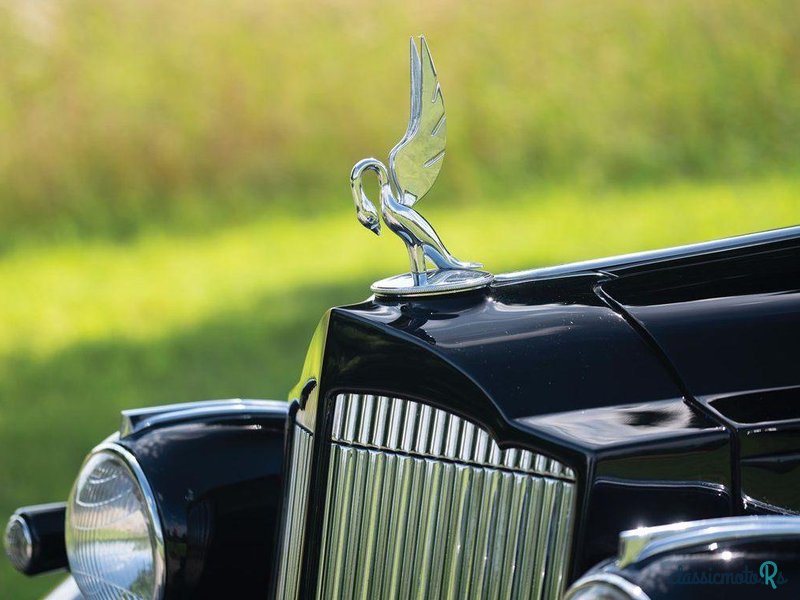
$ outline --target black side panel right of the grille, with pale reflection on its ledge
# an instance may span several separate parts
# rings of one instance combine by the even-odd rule
[[[684,400],[519,422],[570,440],[589,457],[579,572],[613,553],[620,531],[732,514],[730,435]]]

